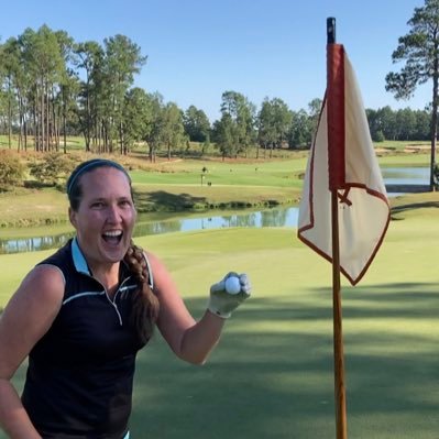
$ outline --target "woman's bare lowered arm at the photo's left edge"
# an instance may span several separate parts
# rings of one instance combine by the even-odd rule
[[[51,327],[63,295],[62,273],[41,265],[28,274],[0,316],[0,426],[10,438],[41,438],[10,380]]]

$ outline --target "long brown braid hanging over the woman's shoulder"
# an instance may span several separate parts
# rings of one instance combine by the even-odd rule
[[[143,250],[136,246],[133,241],[131,241],[124,261],[140,282],[139,288],[133,294],[131,325],[136,330],[142,342],[146,342],[153,334],[154,326],[158,318],[158,299],[149,284],[150,274]]]

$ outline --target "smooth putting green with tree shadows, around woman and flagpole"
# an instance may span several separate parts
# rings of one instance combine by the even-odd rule
[[[439,437],[436,209],[392,221],[356,287],[342,282],[348,430],[355,439]],[[133,438],[334,438],[330,264],[294,229],[141,238],[172,270],[196,317],[211,283],[248,272],[253,296],[201,367],[156,333],[140,352]],[[0,305],[50,252],[0,256]],[[15,382],[20,387],[23,367]],[[4,437],[4,436],[3,436]]]

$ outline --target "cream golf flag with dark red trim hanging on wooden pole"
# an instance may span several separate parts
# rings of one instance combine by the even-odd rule
[[[340,271],[355,285],[384,239],[389,206],[351,63],[328,44],[328,85],[299,206],[298,238],[332,262],[331,195],[337,190]]]

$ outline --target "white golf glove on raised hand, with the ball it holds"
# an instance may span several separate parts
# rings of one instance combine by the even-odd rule
[[[251,285],[245,273],[228,273],[224,278],[210,287],[207,306],[210,312],[227,319],[246,298],[250,297]]]

